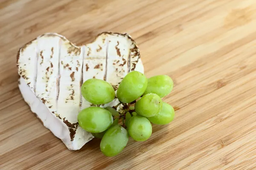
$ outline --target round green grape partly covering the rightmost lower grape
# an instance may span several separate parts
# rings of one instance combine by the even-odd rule
[[[156,116],[162,109],[162,99],[157,94],[146,94],[135,103],[135,111],[141,116]]]

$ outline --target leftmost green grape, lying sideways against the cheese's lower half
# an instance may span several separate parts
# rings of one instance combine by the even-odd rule
[[[77,119],[79,125],[90,133],[103,132],[113,123],[111,112],[99,107],[90,107],[81,110]]]

